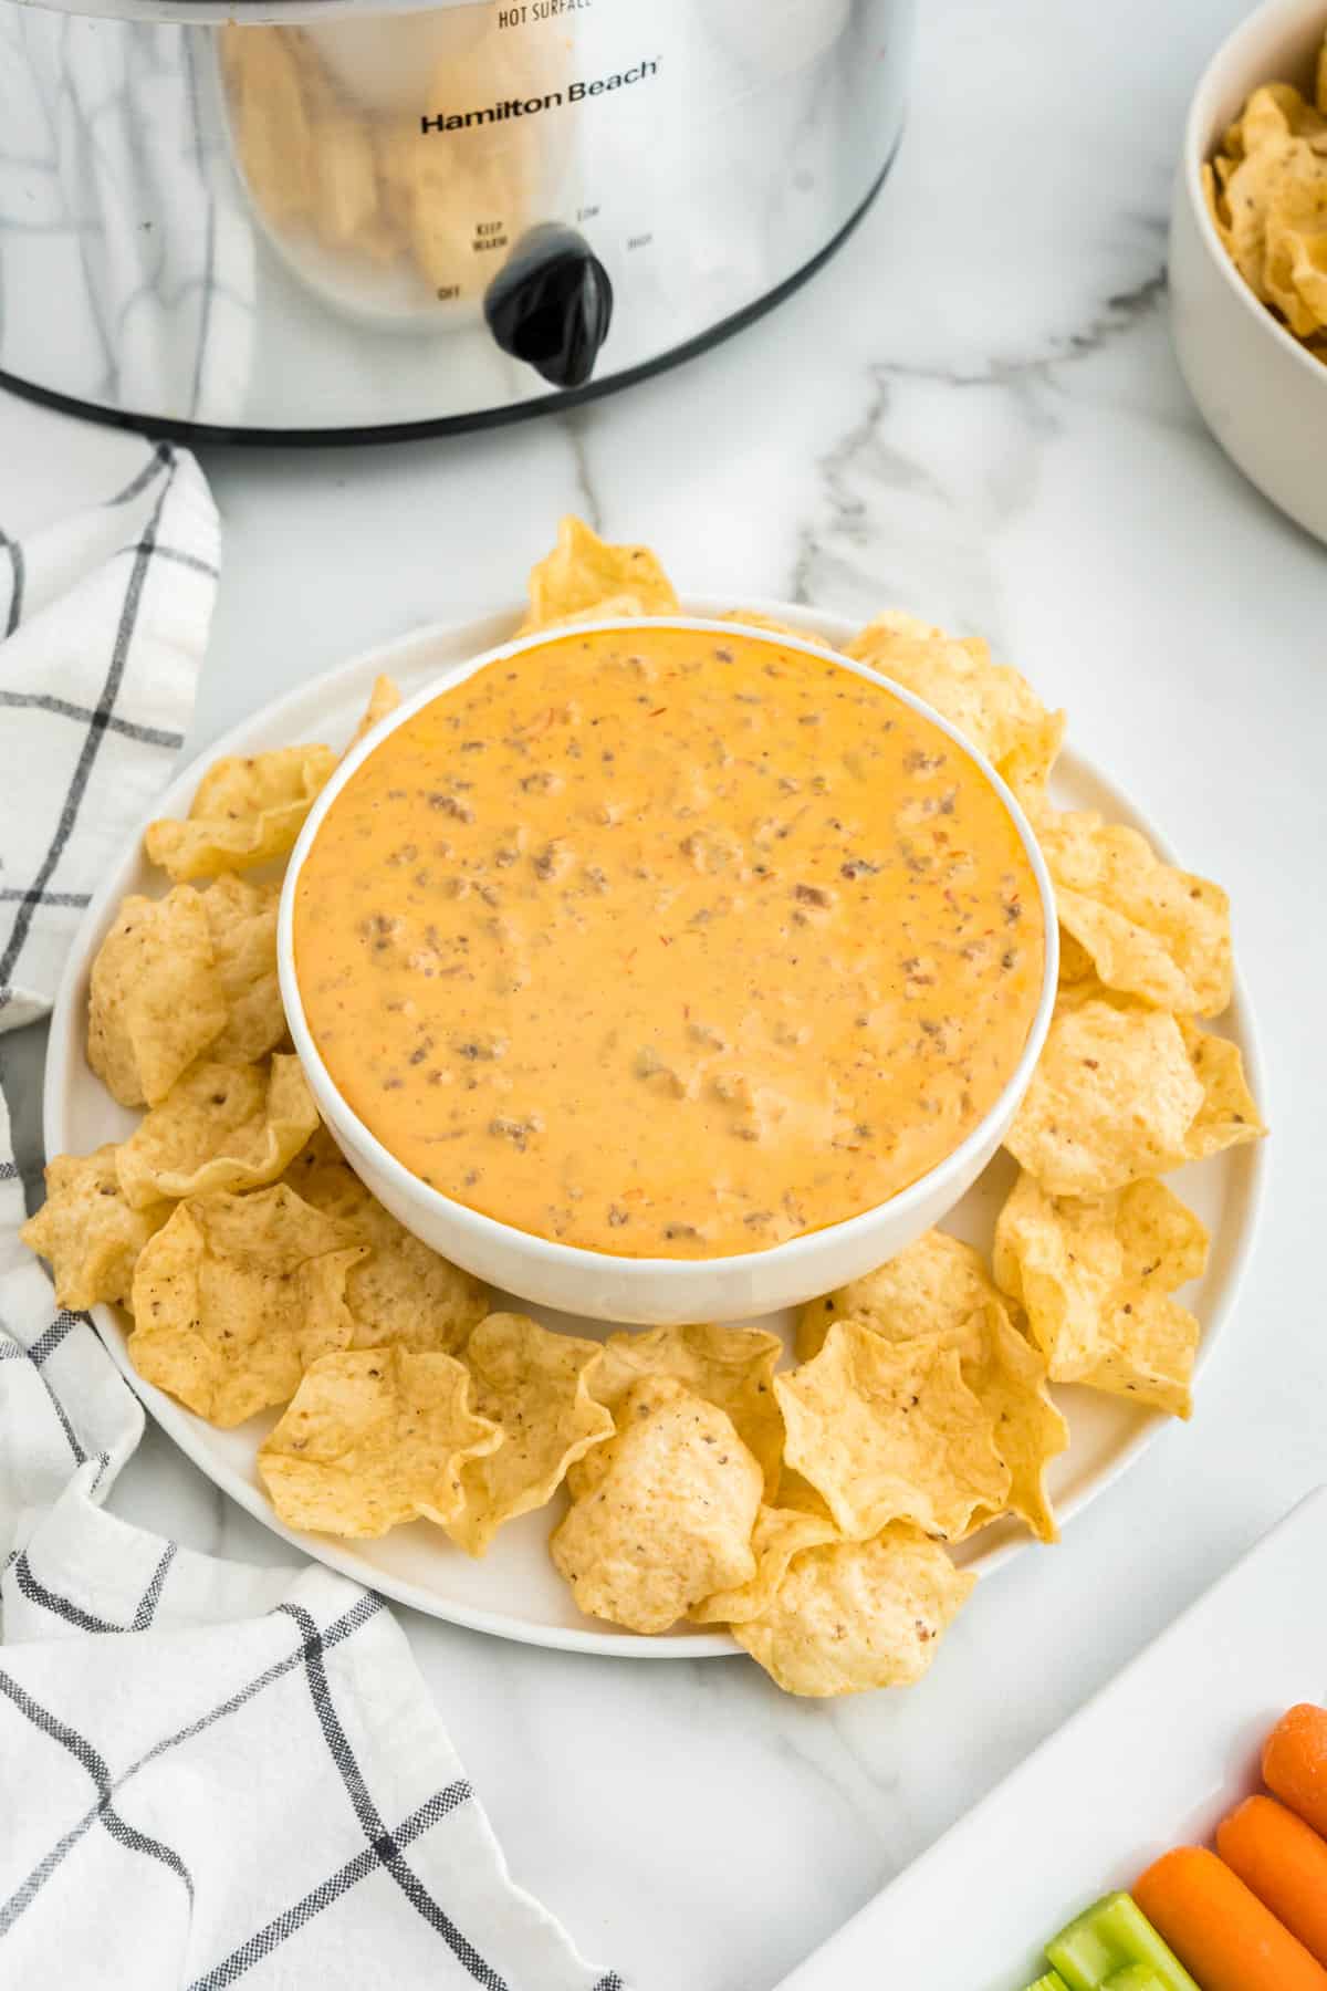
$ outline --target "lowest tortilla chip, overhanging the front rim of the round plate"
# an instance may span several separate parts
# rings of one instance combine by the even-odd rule
[[[975,1581],[921,1529],[895,1521],[873,1541],[796,1555],[774,1601],[732,1637],[788,1694],[911,1686]]]

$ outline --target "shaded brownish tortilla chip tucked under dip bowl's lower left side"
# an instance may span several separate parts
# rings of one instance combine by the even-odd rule
[[[358,1242],[372,1246],[346,1280],[352,1348],[394,1342],[416,1352],[460,1354],[470,1330],[489,1310],[487,1290],[477,1278],[398,1224],[346,1167],[324,1129],[294,1157],[284,1181],[316,1211],[342,1218]]]

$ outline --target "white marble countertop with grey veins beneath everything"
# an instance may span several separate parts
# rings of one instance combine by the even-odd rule
[[[1327,1477],[1327,553],[1218,452],[1166,332],[1184,102],[1239,12],[1184,0],[1158,32],[1154,0],[929,0],[879,203],[738,340],[460,442],[201,452],[227,553],[191,749],[509,599],[575,508],[684,587],[991,637],[1233,896],[1273,1123],[1237,1316],[1194,1424],[985,1581],[921,1688],[802,1704],[740,1659],[583,1659],[402,1613],[513,1874],[639,1991],[768,1991]],[[0,476],[22,456],[54,504],[80,430],[0,412]],[[0,1069],[32,1151],[38,1047],[0,1039]],[[113,1505],[290,1553],[157,1434]]]

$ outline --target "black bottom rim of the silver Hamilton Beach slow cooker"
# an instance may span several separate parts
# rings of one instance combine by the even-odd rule
[[[744,327],[762,319],[766,311],[774,311],[782,305],[786,297],[792,297],[818,269],[830,261],[830,257],[842,249],[852,231],[857,227],[867,207],[883,187],[889,177],[889,169],[897,159],[901,143],[895,141],[889,157],[879,169],[877,179],[867,189],[865,199],[852,211],[838,235],[832,235],[824,249],[794,269],[792,277],[784,277],[772,291],[758,297],[752,305],[744,305],[734,311],[728,319],[720,319],[718,325],[710,327],[708,332],[700,332],[696,338],[684,340],[680,346],[672,346],[655,360],[645,360],[643,366],[629,366],[625,372],[611,374],[607,380],[591,380],[587,386],[567,388],[561,394],[539,394],[535,400],[517,400],[507,408],[481,408],[475,414],[444,414],[424,422],[384,422],[368,428],[229,428],[213,422],[171,422],[157,414],[131,414],[121,408],[101,408],[97,402],[78,400],[74,394],[58,394],[54,388],[36,386],[32,380],[22,380],[18,374],[4,372],[0,368],[0,386],[10,388],[10,392],[20,394],[24,400],[40,402],[44,408],[56,408],[60,414],[74,414],[90,422],[103,422],[109,428],[131,428],[139,436],[151,436],[163,442],[243,442],[267,448],[340,448],[344,444],[358,442],[422,442],[430,436],[458,436],[479,428],[501,428],[505,422],[529,422],[541,414],[559,414],[565,408],[579,408],[587,400],[601,400],[605,394],[619,394],[627,386],[637,386],[641,380],[649,380],[659,372],[666,372],[670,366],[684,366],[686,360],[698,358],[708,352],[710,346],[720,344],[724,338],[732,338]]]

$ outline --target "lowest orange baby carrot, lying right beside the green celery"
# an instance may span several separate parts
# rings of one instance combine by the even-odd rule
[[[1162,1854],[1132,1895],[1204,1991],[1327,1991],[1327,1971],[1202,1846]]]

